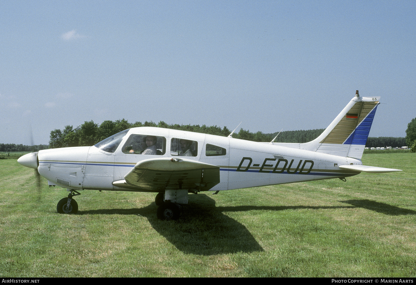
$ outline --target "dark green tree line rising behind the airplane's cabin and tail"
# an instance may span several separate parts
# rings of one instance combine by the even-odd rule
[[[53,149],[67,146],[92,146],[120,131],[140,126],[153,126],[182,131],[193,131],[197,133],[213,134],[217,136],[228,136],[231,133],[231,131],[226,126],[221,128],[219,126],[206,125],[179,125],[167,124],[164,121],[160,121],[158,124],[154,123],[153,121],[145,121],[144,124],[142,124],[139,121],[136,121],[135,123],[129,123],[125,119],[116,121],[103,121],[100,125],[98,125],[94,123],[94,121],[85,121],[84,124],[77,126],[76,128],[68,125],[65,126],[63,130],[54,129],[51,131],[49,147]],[[282,131],[275,139],[275,142],[305,143],[316,139],[320,134],[322,134],[323,131],[324,129]],[[264,134],[261,131],[252,133],[249,130],[240,129],[237,134],[233,134],[233,138],[245,139],[249,141],[272,141],[272,139],[278,133],[279,132]],[[405,138],[369,137],[366,147],[401,147],[405,145]]]

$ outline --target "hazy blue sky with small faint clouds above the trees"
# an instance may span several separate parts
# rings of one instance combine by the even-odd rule
[[[326,128],[355,90],[370,136],[416,117],[414,1],[2,1],[0,142],[93,120]]]

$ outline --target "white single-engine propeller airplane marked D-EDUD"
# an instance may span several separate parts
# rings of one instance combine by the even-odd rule
[[[37,169],[50,186],[67,188],[58,213],[77,213],[72,197],[79,190],[155,192],[157,217],[175,220],[188,193],[400,171],[361,162],[379,99],[357,91],[327,129],[305,144],[139,127],[94,146],[46,149],[17,161]]]

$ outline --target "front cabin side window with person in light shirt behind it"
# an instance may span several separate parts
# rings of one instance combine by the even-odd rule
[[[163,155],[166,152],[166,138],[131,134],[121,150],[125,154]]]

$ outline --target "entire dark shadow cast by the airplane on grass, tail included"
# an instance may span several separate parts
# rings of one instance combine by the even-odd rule
[[[156,204],[144,208],[78,211],[78,214],[140,215],[183,253],[215,255],[235,252],[264,251],[253,235],[241,223],[223,214],[252,210],[284,211],[288,209],[366,208],[387,215],[416,214],[415,211],[370,200],[340,201],[352,206],[229,206],[216,207],[215,200],[205,194],[192,195],[185,214],[177,221],[160,221]]]

